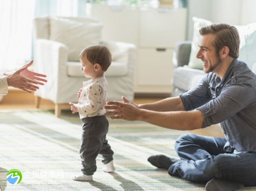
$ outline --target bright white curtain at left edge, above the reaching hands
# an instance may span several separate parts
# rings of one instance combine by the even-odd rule
[[[31,59],[34,0],[0,0],[0,72]]]

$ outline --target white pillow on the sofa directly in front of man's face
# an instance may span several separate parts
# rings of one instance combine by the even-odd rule
[[[194,68],[194,69],[202,69],[203,70],[203,65],[201,59],[196,58],[196,54],[199,51],[199,39],[200,39],[200,33],[199,29],[212,25],[213,23],[211,21],[207,21],[205,19],[193,17],[192,20],[194,21],[194,30],[193,30],[193,37],[192,37],[192,43],[191,43],[191,52],[190,52],[190,62],[189,62],[189,67]]]

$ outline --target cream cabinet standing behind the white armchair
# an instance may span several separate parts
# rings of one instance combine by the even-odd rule
[[[172,53],[186,36],[187,10],[132,9],[90,4],[89,15],[103,22],[102,38],[137,46],[135,93],[171,93]]]

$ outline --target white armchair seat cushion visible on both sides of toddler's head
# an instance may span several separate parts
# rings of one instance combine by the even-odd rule
[[[67,75],[71,77],[82,77],[80,62],[67,63]],[[105,72],[105,76],[125,76],[128,73],[127,64],[112,61],[110,67]]]

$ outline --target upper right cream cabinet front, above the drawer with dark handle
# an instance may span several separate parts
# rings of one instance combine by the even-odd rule
[[[186,9],[161,9],[141,11],[139,46],[173,48],[185,40]]]

